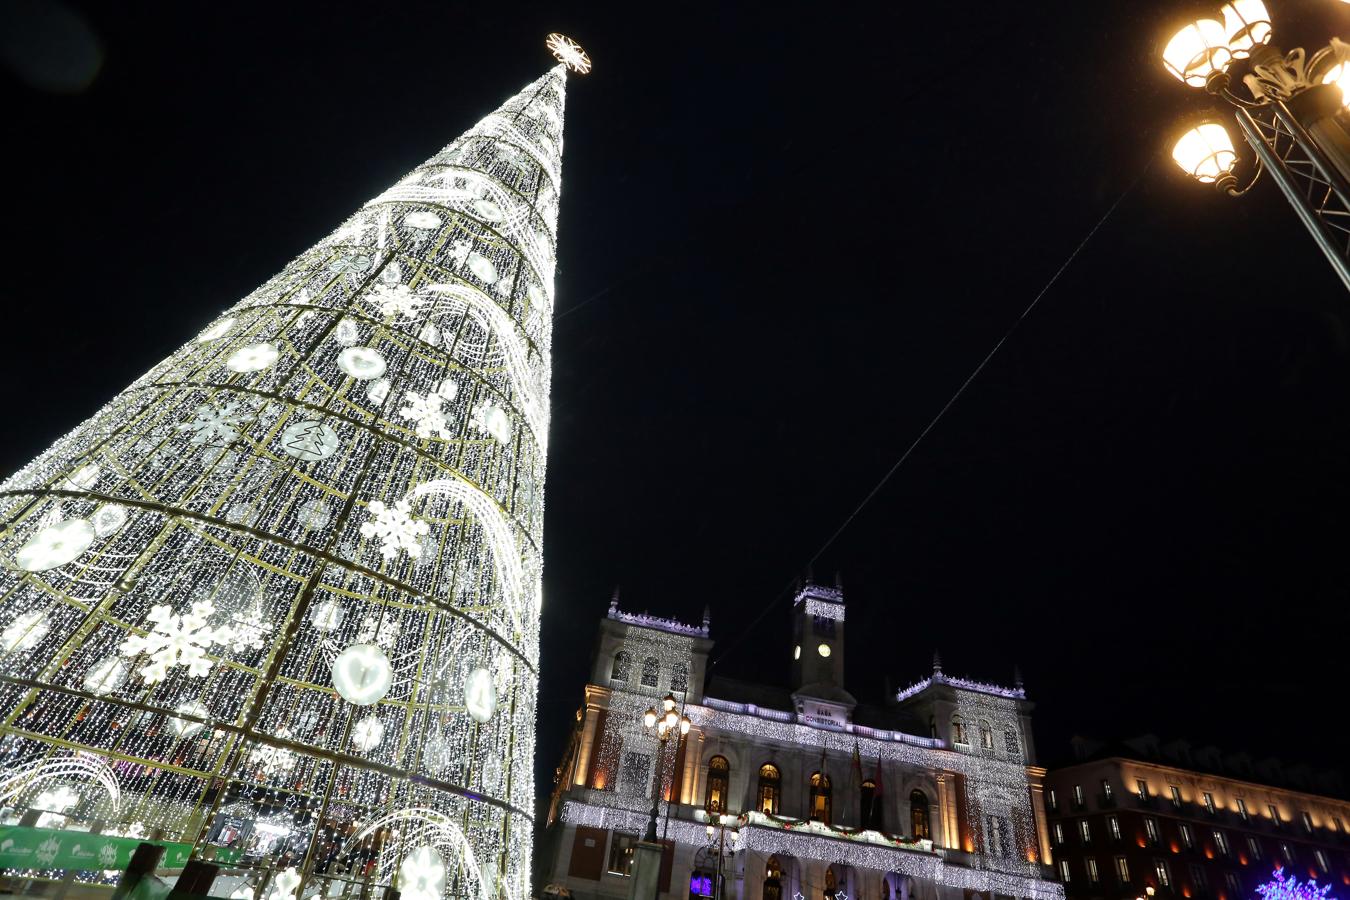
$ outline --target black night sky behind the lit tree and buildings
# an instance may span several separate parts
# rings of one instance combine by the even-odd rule
[[[567,97],[541,789],[616,584],[711,606],[714,672],[786,684],[787,586],[1116,201],[815,561],[849,688],[938,648],[1022,667],[1042,760],[1154,731],[1343,762],[1350,297],[1272,184],[1170,162],[1207,108],[1157,61],[1185,3],[5,3],[0,472],[563,31],[595,72]],[[1350,34],[1345,3],[1269,5],[1287,49]]]

